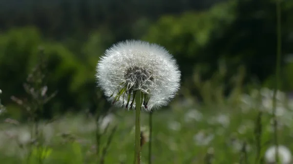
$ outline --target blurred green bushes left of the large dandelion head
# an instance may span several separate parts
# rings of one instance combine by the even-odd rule
[[[87,44],[92,45],[92,40]],[[16,111],[16,107],[9,103],[10,96],[26,98],[23,82],[38,62],[39,47],[44,49],[47,62],[45,82],[49,91],[58,91],[54,103],[45,107],[45,114],[50,116],[69,108],[83,109],[87,108],[86,104],[93,104],[96,95],[92,90],[96,87],[95,62],[99,55],[88,53],[86,63],[83,63],[62,44],[44,41],[35,28],[26,27],[0,35],[0,86],[5,86],[2,101],[7,102],[10,111]],[[94,52],[92,48],[96,47],[87,50]]]

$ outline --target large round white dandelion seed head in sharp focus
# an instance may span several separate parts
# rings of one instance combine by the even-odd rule
[[[119,42],[105,51],[97,64],[98,85],[118,107],[135,108],[135,91],[142,91],[142,109],[166,106],[179,90],[175,59],[157,44]]]

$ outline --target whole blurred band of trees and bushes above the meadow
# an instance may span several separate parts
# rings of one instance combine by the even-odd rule
[[[178,97],[197,96],[194,76],[209,79],[224,64],[226,76],[244,68],[244,88],[272,87],[276,60],[274,0],[0,0],[0,89],[10,114],[11,96],[24,98],[38,47],[48,60],[48,92],[58,91],[43,117],[105,104],[95,66],[112,44],[142,39],[167,48],[182,71]],[[282,90],[293,89],[293,1],[282,2]],[[224,79],[224,92],[231,90]],[[98,96],[96,95],[98,92]],[[15,109],[15,110],[14,110]],[[15,111],[15,112],[14,112]]]

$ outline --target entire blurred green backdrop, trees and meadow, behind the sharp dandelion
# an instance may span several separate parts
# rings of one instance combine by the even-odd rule
[[[274,134],[292,150],[293,0],[280,1],[281,91],[274,133],[275,0],[0,0],[0,164],[37,164],[25,154],[38,152],[29,148],[30,110],[13,99],[33,107],[23,84],[40,48],[47,93],[57,91],[36,116],[48,148],[44,164],[96,164],[95,137],[109,123],[117,131],[106,146],[105,164],[132,163],[133,111],[93,117],[113,109],[97,87],[96,64],[109,46],[126,39],[166,47],[182,72],[175,100],[153,114],[153,164],[252,164],[275,144]],[[148,118],[143,112],[142,129],[149,128]],[[110,133],[103,134],[102,145]],[[68,138],[74,142],[64,142]],[[147,152],[144,145],[142,164]]]

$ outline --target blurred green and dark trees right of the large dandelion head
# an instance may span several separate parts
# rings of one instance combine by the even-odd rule
[[[288,21],[293,14],[291,3],[282,1],[285,53],[292,52],[293,44],[288,37],[293,28],[292,21]],[[245,82],[255,77],[262,82],[275,68],[274,10],[274,1],[229,0],[203,12],[162,16],[143,38],[165,46],[175,55],[184,81],[198,67],[204,79],[210,78],[217,70],[217,62],[225,60],[228,76],[243,65],[247,69]]]

